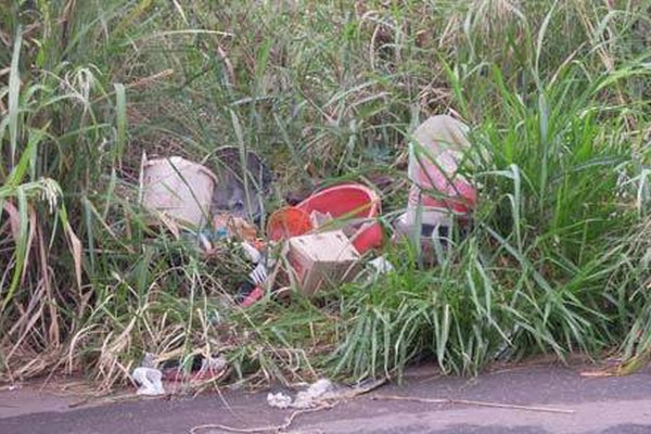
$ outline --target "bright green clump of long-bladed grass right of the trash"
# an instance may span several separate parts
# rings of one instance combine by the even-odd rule
[[[493,74],[501,99],[473,135],[483,192],[475,229],[431,270],[407,260],[354,289],[337,370],[388,373],[431,354],[447,371],[476,373],[532,352],[599,354],[629,327],[625,294],[647,273],[629,238],[646,175],[627,112],[600,106],[600,82],[569,99],[572,72],[529,105]]]

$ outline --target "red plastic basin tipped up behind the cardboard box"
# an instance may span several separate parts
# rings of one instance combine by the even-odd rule
[[[349,235],[360,254],[382,245],[382,227],[375,221],[380,215],[380,197],[365,186],[345,183],[330,187],[301,202],[296,208],[308,216],[316,210],[330,214],[334,219],[360,219],[359,229]]]

